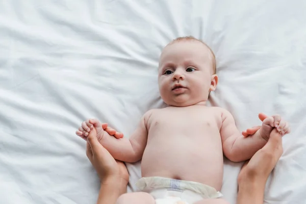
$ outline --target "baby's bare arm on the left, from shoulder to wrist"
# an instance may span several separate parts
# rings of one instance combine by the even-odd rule
[[[142,158],[147,143],[147,121],[152,110],[146,112],[130,138],[115,138],[104,131],[100,143],[116,159],[123,162],[134,163]]]

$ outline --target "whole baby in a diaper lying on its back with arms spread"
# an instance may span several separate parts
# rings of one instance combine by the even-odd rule
[[[130,138],[110,135],[96,119],[84,121],[76,132],[83,138],[96,132],[116,160],[142,159],[142,178],[136,184],[142,192],[123,194],[117,203],[227,203],[219,192],[223,155],[233,162],[248,160],[274,127],[282,135],[290,132],[279,115],[260,114],[262,126],[243,136],[230,112],[208,107],[210,91],[218,84],[215,56],[193,37],[177,38],[163,49],[158,84],[168,107],[147,111]]]

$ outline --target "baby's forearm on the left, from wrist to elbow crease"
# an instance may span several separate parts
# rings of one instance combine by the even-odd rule
[[[117,139],[110,135],[104,135],[101,144],[110,152],[114,159],[134,163],[139,160],[131,141],[127,138]]]

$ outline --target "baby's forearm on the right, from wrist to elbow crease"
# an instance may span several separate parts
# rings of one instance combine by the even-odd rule
[[[267,141],[261,137],[259,131],[249,137],[236,137],[228,148],[227,158],[233,162],[241,162],[250,159],[259,149],[261,149]]]

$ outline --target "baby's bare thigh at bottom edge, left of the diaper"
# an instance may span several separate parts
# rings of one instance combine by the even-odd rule
[[[116,204],[155,204],[155,199],[148,193],[135,192],[120,195]]]

